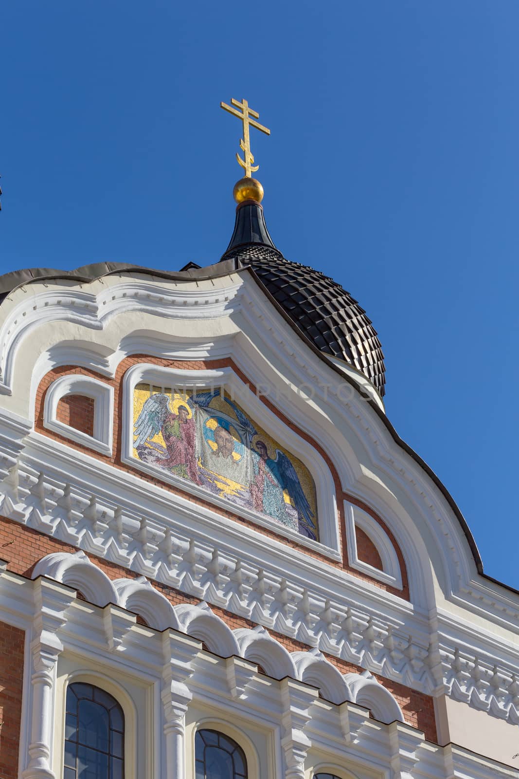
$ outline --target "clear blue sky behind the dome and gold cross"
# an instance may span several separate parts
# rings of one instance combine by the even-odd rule
[[[247,97],[288,259],[357,298],[387,414],[519,587],[517,0],[2,7],[0,271],[177,270],[233,229]]]

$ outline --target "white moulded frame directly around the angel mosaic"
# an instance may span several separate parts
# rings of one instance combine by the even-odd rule
[[[188,490],[193,495],[205,499],[207,502],[221,506],[226,511],[230,507],[234,513],[244,516],[257,525],[268,527],[277,534],[287,536],[297,541],[300,545],[314,549],[331,559],[341,559],[340,536],[338,530],[337,506],[335,502],[335,485],[331,472],[321,455],[302,437],[285,425],[273,411],[261,403],[261,400],[251,392],[250,388],[241,381],[232,368],[218,368],[211,370],[183,370],[180,368],[159,368],[149,363],[134,365],[124,375],[123,380],[123,419],[121,460],[131,465],[132,468],[144,471],[163,481],[167,481],[184,491],[186,481],[174,474],[158,471],[153,465],[143,463],[133,453],[133,390],[140,382],[146,382],[155,386],[177,388],[207,388],[208,386],[225,386],[226,390],[234,393],[245,411],[258,421],[266,431],[278,430],[279,438],[283,446],[289,451],[296,452],[297,456],[306,465],[314,478],[317,493],[317,518],[319,523],[319,541],[306,538],[296,530],[291,530],[268,517],[262,516],[251,509],[237,504],[230,504],[225,498],[213,495],[198,485],[188,482]]]

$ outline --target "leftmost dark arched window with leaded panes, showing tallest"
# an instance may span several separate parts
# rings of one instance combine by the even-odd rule
[[[124,714],[99,687],[68,686],[63,779],[124,779]]]

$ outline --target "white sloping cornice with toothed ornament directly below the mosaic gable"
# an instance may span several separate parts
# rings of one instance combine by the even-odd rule
[[[253,528],[209,509],[194,516],[188,499],[154,485],[142,505],[138,476],[84,456],[81,474],[110,474],[93,495],[66,446],[31,436],[52,475],[24,465],[12,498],[0,489],[4,515],[423,692],[439,683],[428,667],[428,622],[407,601],[302,550],[287,556],[282,541],[265,545]]]

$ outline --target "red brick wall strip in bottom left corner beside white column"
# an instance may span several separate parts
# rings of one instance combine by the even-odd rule
[[[18,776],[25,633],[0,622],[0,777]]]

